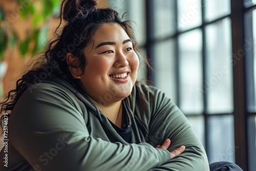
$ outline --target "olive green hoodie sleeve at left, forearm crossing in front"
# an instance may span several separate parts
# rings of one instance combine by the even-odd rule
[[[147,143],[111,143],[91,137],[75,99],[67,92],[41,84],[32,93],[25,91],[12,111],[10,142],[33,168],[148,170],[170,159],[167,150]]]

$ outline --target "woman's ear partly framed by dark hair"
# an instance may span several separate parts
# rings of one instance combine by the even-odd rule
[[[80,67],[78,67],[80,65],[79,58],[69,52],[67,54],[66,60],[67,60],[67,64],[68,64],[71,75],[75,79],[80,79],[82,75],[82,70]]]

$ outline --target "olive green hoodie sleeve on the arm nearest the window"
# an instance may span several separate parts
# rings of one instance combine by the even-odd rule
[[[209,170],[208,159],[203,145],[197,138],[190,123],[172,100],[156,88],[147,90],[144,101],[150,105],[151,117],[148,121],[150,137],[147,142],[156,147],[165,139],[171,140],[169,152],[185,145],[185,151],[172,160],[150,170]],[[144,106],[146,104],[143,104]]]

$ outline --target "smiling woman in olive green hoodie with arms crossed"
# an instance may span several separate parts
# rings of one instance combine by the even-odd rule
[[[2,103],[0,170],[209,170],[177,106],[136,82],[130,22],[96,5],[62,2],[61,34]]]

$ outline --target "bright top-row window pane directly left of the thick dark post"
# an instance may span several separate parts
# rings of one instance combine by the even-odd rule
[[[205,19],[214,20],[230,14],[230,0],[205,0]]]

